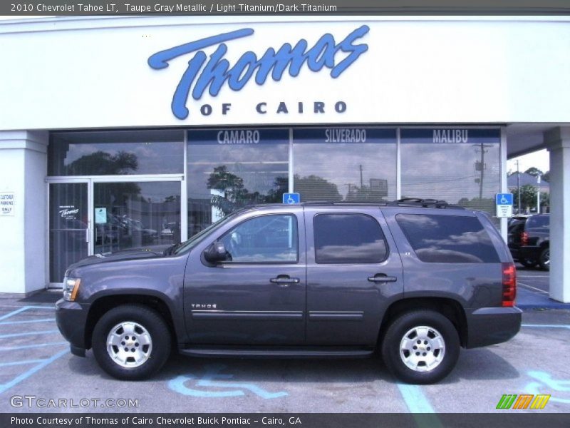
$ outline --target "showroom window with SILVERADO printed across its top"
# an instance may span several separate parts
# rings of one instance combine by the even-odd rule
[[[396,198],[395,128],[293,131],[294,191],[301,201]]]

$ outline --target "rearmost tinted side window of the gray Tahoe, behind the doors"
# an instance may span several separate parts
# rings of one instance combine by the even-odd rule
[[[499,255],[476,217],[398,214],[396,221],[423,262],[499,263]]]

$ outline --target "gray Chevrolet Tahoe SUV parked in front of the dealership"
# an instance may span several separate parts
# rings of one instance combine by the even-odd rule
[[[514,264],[487,215],[435,200],[239,210],[185,243],[71,265],[58,327],[119,379],[198,357],[365,357],[437,382],[460,347],[521,325]]]

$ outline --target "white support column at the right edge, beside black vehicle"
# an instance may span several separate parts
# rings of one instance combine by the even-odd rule
[[[544,133],[550,152],[550,297],[570,302],[570,127]]]

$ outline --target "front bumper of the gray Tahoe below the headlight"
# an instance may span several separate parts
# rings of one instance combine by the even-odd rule
[[[73,355],[85,356],[86,337],[85,327],[89,305],[77,302],[68,302],[60,299],[56,302],[56,322],[61,335],[71,345]]]

